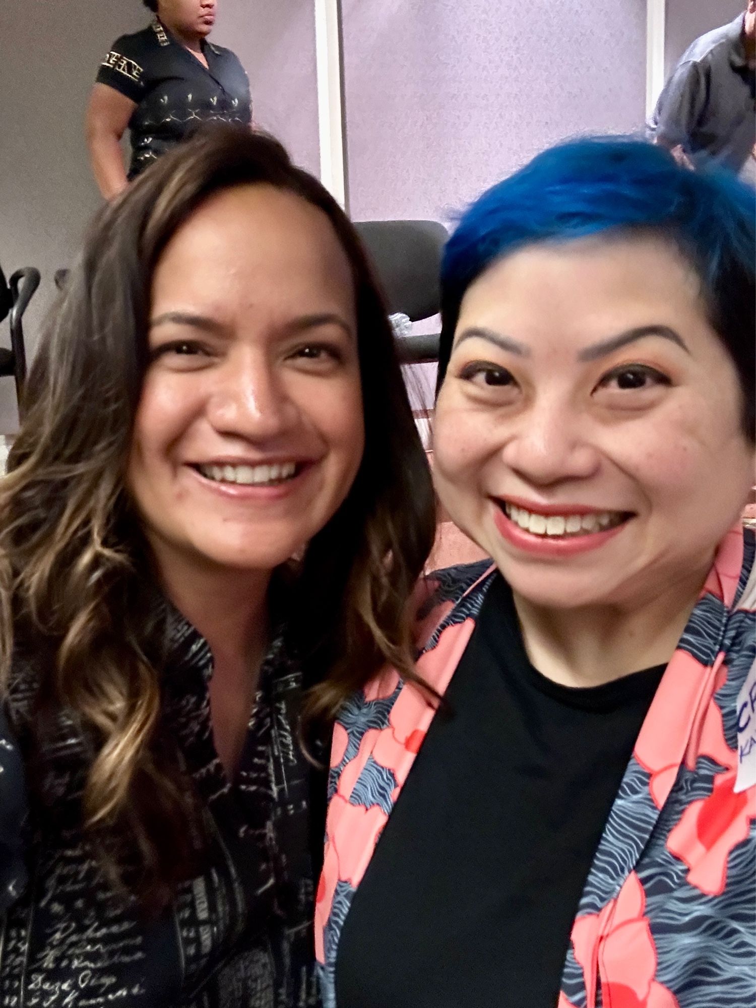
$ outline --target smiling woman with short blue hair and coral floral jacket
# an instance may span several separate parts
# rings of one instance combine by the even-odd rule
[[[589,139],[450,240],[417,672],[341,710],[338,1008],[750,1008],[753,192]]]

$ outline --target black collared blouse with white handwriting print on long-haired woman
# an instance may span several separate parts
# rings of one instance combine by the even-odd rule
[[[61,718],[48,787],[60,795],[55,817],[64,828],[54,835],[31,831],[26,884],[16,840],[20,761],[6,728],[0,736],[0,807],[14,809],[16,831],[0,817],[5,849],[13,854],[0,876],[0,1008],[319,1004],[310,771],[296,742],[302,683],[297,663],[278,635],[261,668],[231,782],[213,745],[208,645],[173,610],[166,625],[163,718],[207,811],[207,869],[179,887],[174,904],[157,920],[144,920],[132,902],[114,896],[76,826],[83,743]],[[30,665],[14,669],[14,724],[29,711],[36,682]]]

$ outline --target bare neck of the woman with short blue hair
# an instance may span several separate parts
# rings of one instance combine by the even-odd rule
[[[677,646],[708,569],[676,581],[633,607],[552,609],[515,593],[525,649],[547,678],[568,686],[597,686],[665,665]]]

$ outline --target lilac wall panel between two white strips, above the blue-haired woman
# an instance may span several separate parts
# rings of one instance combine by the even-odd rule
[[[553,141],[638,129],[645,0],[344,0],[350,209],[448,219]]]

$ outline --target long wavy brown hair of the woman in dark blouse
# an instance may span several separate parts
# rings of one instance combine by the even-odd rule
[[[414,678],[408,600],[432,543],[434,501],[381,293],[323,185],[275,140],[216,126],[96,218],[42,335],[0,479],[0,694],[39,815],[58,800],[44,768],[64,719],[84,741],[85,839],[144,904],[164,903],[197,870],[202,832],[179,755],[161,731],[164,626],[149,602],[157,579],[125,483],[151,277],[204,200],[255,182],[328,216],[357,295],[365,454],[344,504],[293,572],[292,630],[318,683],[311,712],[333,716],[385,662]],[[14,679],[29,663],[33,703],[19,704]]]

